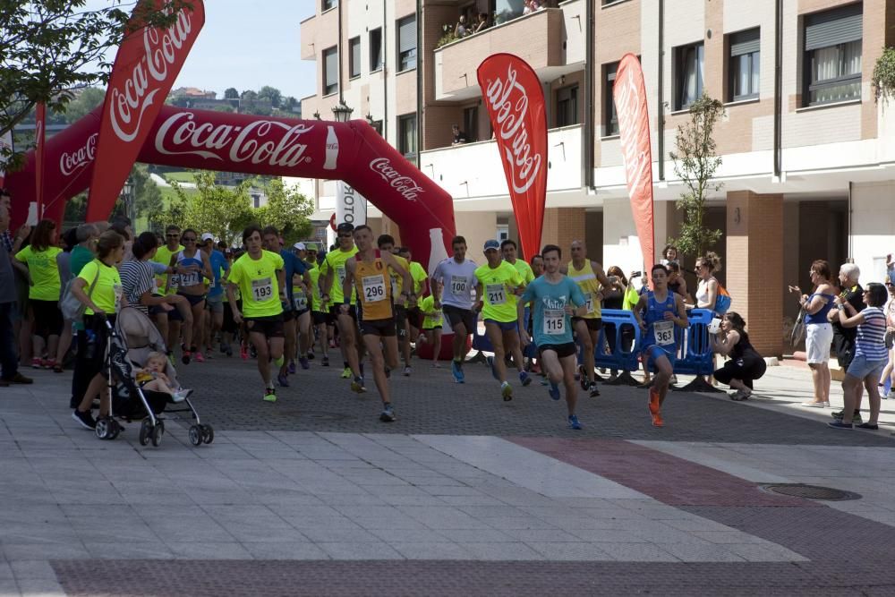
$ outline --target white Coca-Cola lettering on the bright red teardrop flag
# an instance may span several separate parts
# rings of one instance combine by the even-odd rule
[[[516,69],[507,67],[507,80],[489,81],[485,91],[491,113],[499,126],[497,136],[504,149],[504,159],[511,173],[514,192],[528,191],[541,172],[546,156],[534,153],[525,126],[528,113],[528,91],[516,81]],[[532,155],[533,154],[533,155]]]

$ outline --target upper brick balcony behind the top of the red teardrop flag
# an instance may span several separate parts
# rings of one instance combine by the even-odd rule
[[[435,98],[453,101],[480,96],[475,70],[485,57],[498,52],[517,55],[531,64],[541,81],[569,72],[564,68],[568,5],[583,6],[583,0],[526,14],[439,47],[434,52]],[[583,19],[582,14],[579,20]]]

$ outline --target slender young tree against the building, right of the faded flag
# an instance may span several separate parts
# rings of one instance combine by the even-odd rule
[[[722,115],[724,105],[703,94],[690,105],[690,119],[678,126],[675,150],[669,152],[675,174],[686,187],[677,203],[685,213],[684,223],[680,235],[669,242],[687,255],[703,255],[721,237],[721,231],[707,228],[704,219],[707,195],[723,186],[712,181],[721,165],[712,133]]]

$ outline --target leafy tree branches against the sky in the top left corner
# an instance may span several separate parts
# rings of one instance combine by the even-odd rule
[[[103,8],[88,0],[6,0],[0,3],[0,134],[11,131],[35,104],[47,113],[64,112],[75,87],[105,84],[131,15],[129,4],[111,0]],[[91,4],[92,6],[92,4]],[[166,27],[188,0],[166,0],[161,10],[138,4],[134,22]]]

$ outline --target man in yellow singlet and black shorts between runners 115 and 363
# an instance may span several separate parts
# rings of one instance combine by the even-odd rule
[[[597,397],[600,396],[600,390],[597,389],[597,382],[594,380],[593,350],[597,345],[602,327],[601,301],[603,295],[600,289],[601,285],[606,288],[615,285],[609,282],[609,278],[606,277],[603,267],[599,263],[587,259],[587,247],[584,246],[583,241],[572,241],[572,260],[560,271],[571,277],[575,284],[581,288],[584,300],[587,302],[587,313],[584,317],[573,318],[572,325],[575,328],[575,336],[581,343],[582,388],[589,389],[591,397]],[[602,349],[601,346],[599,348]]]

